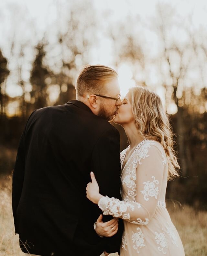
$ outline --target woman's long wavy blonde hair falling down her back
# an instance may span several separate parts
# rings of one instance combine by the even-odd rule
[[[168,180],[179,176],[177,169],[180,166],[173,149],[172,128],[160,97],[147,88],[137,86],[129,89],[129,99],[139,134],[146,139],[158,141],[166,152]]]

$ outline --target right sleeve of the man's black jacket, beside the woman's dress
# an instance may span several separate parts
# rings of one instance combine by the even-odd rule
[[[119,198],[120,195],[120,144],[119,132],[112,126],[105,131],[93,149],[92,171],[95,174],[102,195]],[[97,215],[102,212],[97,206]],[[108,221],[112,216],[103,216],[103,221]],[[103,238],[106,242],[105,250],[108,253],[119,252],[123,222],[119,220],[118,232],[110,238]]]

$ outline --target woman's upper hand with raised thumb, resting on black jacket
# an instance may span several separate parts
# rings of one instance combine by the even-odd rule
[[[88,183],[86,188],[86,196],[94,204],[98,204],[98,201],[103,197],[99,194],[99,186],[93,172],[91,172],[91,182]]]

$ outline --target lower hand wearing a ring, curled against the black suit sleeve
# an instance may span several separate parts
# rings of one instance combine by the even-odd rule
[[[103,215],[101,214],[96,221],[96,233],[102,237],[112,237],[118,230],[118,218],[113,218],[107,222],[103,222]],[[108,254],[107,254],[108,255]]]

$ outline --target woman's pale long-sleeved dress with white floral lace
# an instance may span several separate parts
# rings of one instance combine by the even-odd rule
[[[126,149],[121,152],[121,169]],[[144,140],[126,162],[122,173],[122,201],[102,197],[104,215],[124,220],[121,256],[184,256],[179,234],[165,207],[168,163],[160,143]]]

